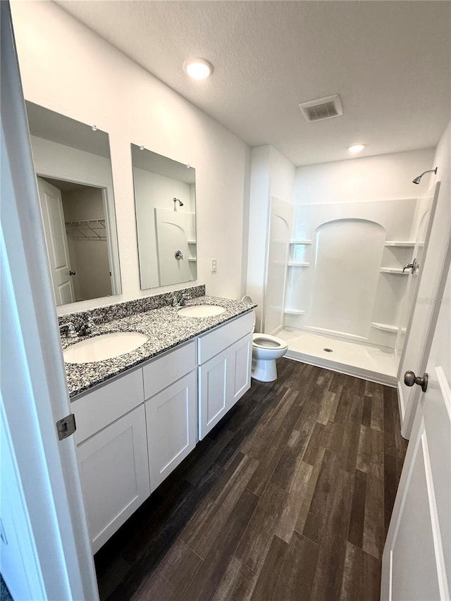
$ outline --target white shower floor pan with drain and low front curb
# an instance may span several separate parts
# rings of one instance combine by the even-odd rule
[[[390,386],[397,383],[393,350],[300,330],[279,330],[276,336],[288,342],[285,355],[288,359]],[[325,348],[332,352],[325,351]]]

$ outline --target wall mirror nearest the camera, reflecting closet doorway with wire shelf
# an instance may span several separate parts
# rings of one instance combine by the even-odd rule
[[[25,104],[56,304],[121,294],[108,134]]]

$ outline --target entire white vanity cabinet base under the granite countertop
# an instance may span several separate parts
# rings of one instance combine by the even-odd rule
[[[250,388],[253,312],[72,404],[97,552]]]

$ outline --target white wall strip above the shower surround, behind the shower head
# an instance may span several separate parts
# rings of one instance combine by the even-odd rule
[[[412,180],[433,167],[432,148],[298,167],[293,202],[316,204],[424,197],[431,178]]]

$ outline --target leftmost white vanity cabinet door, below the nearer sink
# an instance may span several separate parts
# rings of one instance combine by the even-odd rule
[[[95,553],[150,495],[144,405],[78,445]]]

